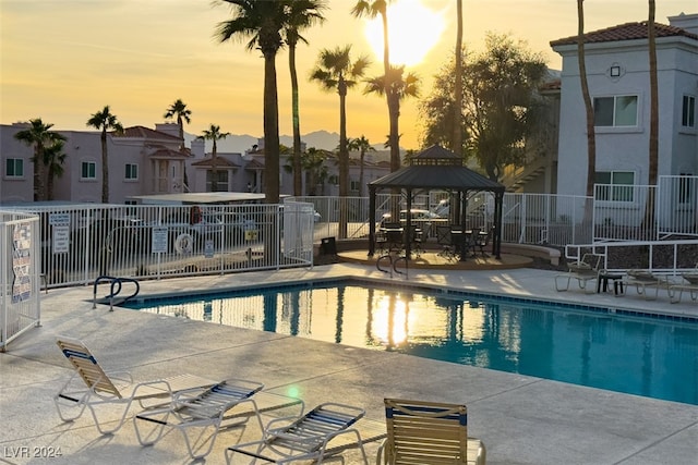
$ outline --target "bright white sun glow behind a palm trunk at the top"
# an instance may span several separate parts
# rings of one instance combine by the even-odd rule
[[[445,29],[443,13],[424,7],[420,0],[399,0],[388,5],[390,63],[414,65],[438,42]],[[383,61],[383,22],[371,20],[366,39],[378,61]]]

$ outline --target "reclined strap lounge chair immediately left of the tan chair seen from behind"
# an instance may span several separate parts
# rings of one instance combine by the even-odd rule
[[[230,464],[236,453],[275,464],[322,463],[329,456],[357,448],[368,465],[365,441],[356,427],[364,414],[362,408],[329,402],[300,417],[274,419],[267,424],[261,440],[226,449],[226,463]]]

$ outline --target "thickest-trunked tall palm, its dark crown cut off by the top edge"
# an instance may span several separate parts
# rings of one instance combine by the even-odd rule
[[[279,203],[279,99],[276,54],[281,48],[291,0],[219,0],[230,3],[232,20],[218,24],[220,42],[248,40],[248,50],[264,57],[264,178],[266,201]]]

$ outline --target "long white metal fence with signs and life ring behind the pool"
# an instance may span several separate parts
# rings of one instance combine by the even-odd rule
[[[27,209],[23,209],[27,211]],[[310,204],[35,207],[49,287],[313,264]]]

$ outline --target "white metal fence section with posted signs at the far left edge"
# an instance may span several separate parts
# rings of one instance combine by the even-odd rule
[[[36,216],[0,211],[0,352],[40,323],[40,272]]]

